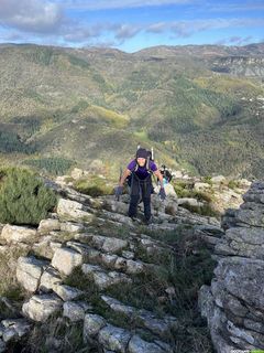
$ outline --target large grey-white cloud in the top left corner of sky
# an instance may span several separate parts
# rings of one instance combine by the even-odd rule
[[[63,22],[58,4],[38,0],[0,0],[0,24],[25,32],[51,33]]]

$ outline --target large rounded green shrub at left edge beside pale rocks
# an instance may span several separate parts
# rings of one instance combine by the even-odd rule
[[[37,225],[56,205],[56,196],[25,169],[0,170],[0,222]]]

